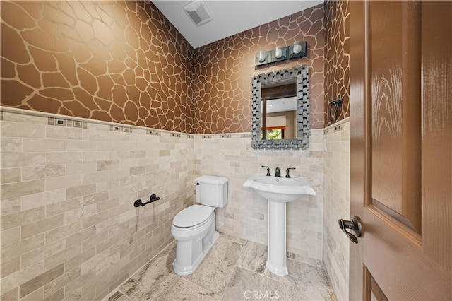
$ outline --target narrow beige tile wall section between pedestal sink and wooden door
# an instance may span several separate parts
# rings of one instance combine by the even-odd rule
[[[328,126],[323,137],[323,262],[336,298],[348,300],[350,242],[340,230],[338,219],[350,218],[350,118]]]

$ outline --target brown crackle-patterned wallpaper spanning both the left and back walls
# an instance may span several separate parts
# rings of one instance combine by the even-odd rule
[[[251,78],[307,64],[323,127],[323,6],[193,49],[149,1],[1,1],[1,105],[191,134],[251,131]],[[256,69],[260,49],[308,55]]]

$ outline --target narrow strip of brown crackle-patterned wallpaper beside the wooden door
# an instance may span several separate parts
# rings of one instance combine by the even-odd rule
[[[325,126],[332,124],[328,117],[328,102],[343,98],[338,120],[350,116],[350,9],[348,1],[325,2]]]

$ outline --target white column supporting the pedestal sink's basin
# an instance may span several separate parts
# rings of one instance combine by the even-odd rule
[[[268,261],[266,267],[277,276],[289,272],[286,266],[286,203],[268,200]]]

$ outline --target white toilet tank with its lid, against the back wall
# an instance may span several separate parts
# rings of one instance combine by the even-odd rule
[[[195,179],[196,203],[224,207],[227,203],[227,177],[203,175]]]

